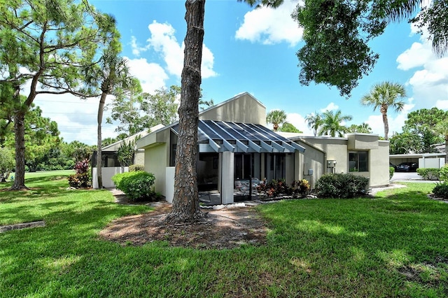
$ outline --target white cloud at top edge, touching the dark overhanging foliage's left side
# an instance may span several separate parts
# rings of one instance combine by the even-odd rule
[[[276,9],[260,7],[251,10],[244,15],[235,38],[267,45],[281,42],[297,45],[303,35],[303,29],[291,17],[297,3],[297,0],[290,0]]]

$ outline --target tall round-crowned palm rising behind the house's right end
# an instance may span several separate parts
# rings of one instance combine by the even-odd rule
[[[392,107],[395,112],[402,111],[405,102],[399,99],[406,97],[406,90],[403,85],[398,83],[384,82],[375,84],[368,94],[365,94],[360,103],[363,106],[373,106],[373,111],[379,108],[383,115],[384,139],[388,139],[389,125],[387,120],[387,110]]]

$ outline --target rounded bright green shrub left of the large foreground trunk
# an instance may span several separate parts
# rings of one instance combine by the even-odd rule
[[[118,190],[123,190],[133,201],[157,199],[153,191],[155,181],[153,173],[145,171],[118,173],[112,177],[112,181]]]

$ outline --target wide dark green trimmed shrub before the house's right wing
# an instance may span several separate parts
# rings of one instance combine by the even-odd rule
[[[325,174],[318,179],[318,197],[349,199],[364,196],[369,189],[369,179],[351,173]]]

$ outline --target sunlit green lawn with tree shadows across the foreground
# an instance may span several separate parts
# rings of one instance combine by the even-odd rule
[[[102,241],[113,218],[151,209],[66,190],[60,172],[26,181],[29,192],[0,192],[0,225],[46,227],[0,234],[0,297],[448,296],[448,204],[426,197],[433,184],[265,204],[267,246],[192,250]]]

